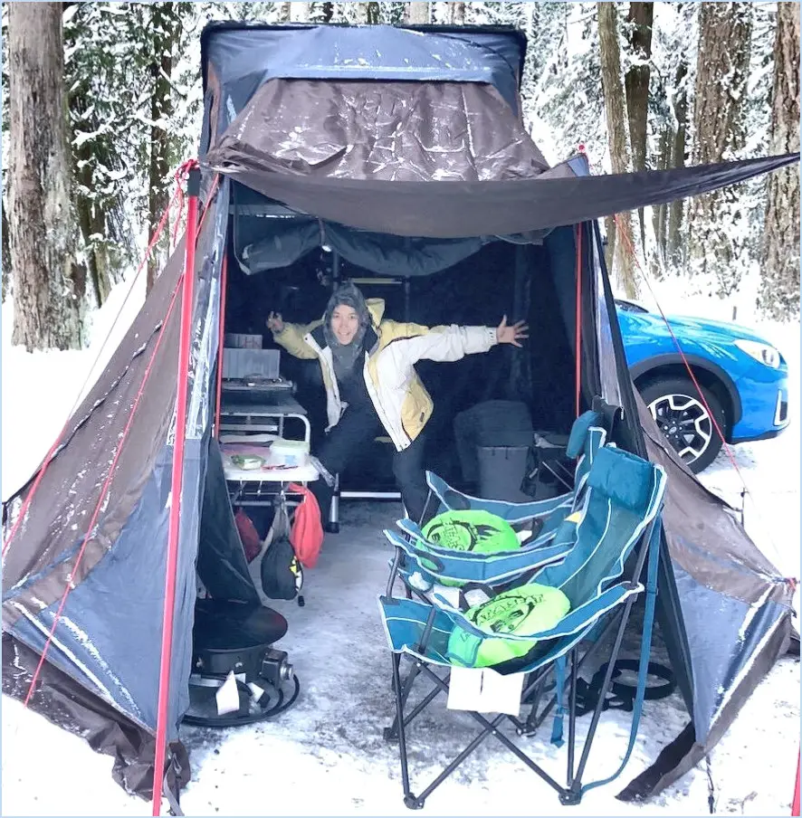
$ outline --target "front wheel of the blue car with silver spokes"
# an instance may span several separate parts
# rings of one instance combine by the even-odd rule
[[[690,378],[672,377],[650,381],[638,391],[674,452],[698,474],[721,451],[721,436],[711,420],[715,418],[725,435],[726,417],[721,401],[702,386],[704,401]],[[705,408],[705,401],[710,412]]]

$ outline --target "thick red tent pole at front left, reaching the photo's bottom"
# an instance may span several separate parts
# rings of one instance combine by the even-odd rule
[[[161,661],[158,674],[158,716],[156,722],[156,757],[153,765],[153,815],[161,810],[165,785],[167,755],[167,718],[169,718],[170,665],[173,652],[173,613],[176,604],[178,534],[181,514],[181,491],[184,482],[184,446],[186,442],[187,382],[189,380],[189,347],[192,335],[193,290],[195,284],[195,245],[197,238],[197,198],[200,193],[200,169],[191,167],[186,182],[186,261],[181,293],[181,329],[178,344],[176,395],[176,442],[173,449],[173,474],[170,492],[170,521],[167,534],[167,575],[161,635]]]

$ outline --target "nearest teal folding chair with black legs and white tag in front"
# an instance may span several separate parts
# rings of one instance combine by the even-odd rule
[[[657,558],[660,543],[660,512],[665,491],[665,472],[659,466],[642,460],[633,454],[612,447],[597,452],[587,473],[586,499],[581,510],[581,519],[576,527],[573,547],[561,562],[542,567],[534,576],[541,585],[560,588],[568,596],[570,611],[556,627],[540,633],[505,634],[504,639],[536,641],[533,648],[519,659],[503,662],[494,667],[502,674],[523,672],[526,675],[522,700],[542,690],[546,676],[554,671],[557,679],[555,698],[550,707],[557,706],[555,728],[552,740],[562,742],[562,718],[565,713],[562,699],[566,682],[564,673],[570,661],[568,680],[568,772],[566,785],[560,785],[539,765],[533,762],[510,737],[498,729],[501,721],[509,718],[519,735],[527,734],[531,719],[524,722],[518,717],[499,715],[492,720],[481,713],[471,713],[482,732],[454,761],[438,775],[420,794],[414,794],[410,785],[409,763],[406,750],[406,728],[423,712],[441,691],[448,690],[449,673],[444,676],[433,670],[441,666],[446,671],[454,666],[454,657],[449,655],[449,639],[455,627],[472,633],[477,639],[487,638],[488,633],[477,628],[465,615],[461,606],[438,594],[430,594],[430,601],[399,599],[389,594],[379,597],[382,621],[387,633],[387,642],[393,655],[393,689],[396,698],[396,720],[392,728],[385,731],[387,739],[397,740],[401,759],[401,774],[404,787],[404,802],[411,809],[419,809],[425,799],[434,792],[444,779],[471,755],[484,737],[492,735],[517,756],[526,766],[539,775],[559,794],[563,804],[577,804],[582,795],[593,786],[606,784],[623,770],[634,747],[640,711],[643,705],[646,670],[651,652],[651,633],[654,622],[654,598],[657,589]],[[625,563],[633,556],[634,567],[631,578],[622,580]],[[604,781],[583,785],[582,778],[587,766],[587,756],[593,744],[598,720],[610,688],[618,652],[624,637],[626,623],[632,605],[639,594],[644,592],[641,576],[647,564],[645,585],[645,614],[642,652],[635,693],[633,725],[629,747],[624,760],[615,775]],[[388,587],[392,587],[391,583]],[[613,617],[614,613],[620,615]],[[582,755],[575,769],[576,702],[578,672],[589,651],[580,659],[579,649],[600,623],[612,630],[616,626],[616,636],[606,676],[602,684],[597,706],[593,711],[587,739]],[[597,641],[598,644],[602,643]],[[590,649],[592,650],[592,648]],[[413,663],[413,673],[409,674],[406,685],[402,685],[400,664],[402,658]],[[441,671],[442,672],[442,671]],[[434,682],[434,689],[414,709],[405,712],[409,687],[419,677]],[[533,705],[532,712],[537,708]],[[539,724],[542,718],[535,719]]]

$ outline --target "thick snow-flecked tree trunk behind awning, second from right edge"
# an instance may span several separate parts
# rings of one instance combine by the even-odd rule
[[[743,147],[751,14],[749,3],[700,4],[694,165],[721,162]],[[738,188],[724,188],[694,196],[689,206],[692,273],[713,276],[722,297],[740,284],[743,240],[737,234],[746,235],[746,214],[740,209],[739,195]]]

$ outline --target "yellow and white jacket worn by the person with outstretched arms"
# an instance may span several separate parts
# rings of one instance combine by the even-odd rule
[[[365,334],[365,385],[387,434],[399,452],[415,440],[432,414],[432,397],[415,372],[415,363],[458,361],[494,347],[494,327],[424,327],[421,324],[382,320],[385,302],[366,301],[372,328]],[[339,422],[345,405],[339,398],[331,350],[323,338],[322,320],[284,324],[273,339],[291,355],[318,358],[326,387],[329,429]]]

